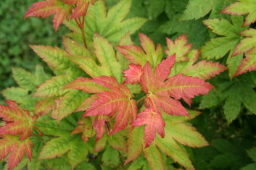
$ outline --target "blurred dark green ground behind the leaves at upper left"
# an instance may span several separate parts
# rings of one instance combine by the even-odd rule
[[[12,77],[12,67],[33,72],[36,64],[44,65],[29,44],[62,46],[62,35],[67,33],[64,25],[59,27],[57,33],[54,32],[52,17],[23,20],[28,7],[34,2],[36,0],[0,1],[0,91],[17,86]],[[0,95],[0,103],[3,101],[4,97]]]

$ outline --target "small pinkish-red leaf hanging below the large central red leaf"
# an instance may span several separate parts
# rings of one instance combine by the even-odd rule
[[[138,116],[137,119],[132,122],[135,127],[140,127],[146,124],[144,129],[144,140],[145,147],[149,147],[156,137],[155,132],[157,131],[161,137],[165,137],[165,122],[162,119],[162,115],[158,111],[152,109],[145,109]]]

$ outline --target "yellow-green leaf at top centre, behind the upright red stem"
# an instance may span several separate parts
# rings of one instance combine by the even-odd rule
[[[95,32],[111,43],[119,43],[120,38],[128,31],[131,34],[135,33],[136,30],[144,25],[146,19],[134,17],[125,20],[130,7],[131,0],[122,0],[107,12],[104,1],[96,1],[94,6],[88,8],[86,14],[84,27],[86,41],[91,42]],[[80,28],[76,25],[75,21],[65,22],[65,25],[73,31],[73,33],[68,34],[69,36],[83,42]],[[101,27],[97,25],[101,25]]]

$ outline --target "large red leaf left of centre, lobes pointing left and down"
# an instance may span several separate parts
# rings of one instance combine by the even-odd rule
[[[133,95],[125,85],[120,85],[115,77],[96,77],[93,82],[102,85],[104,88],[109,88],[110,91],[98,93],[96,101],[91,104],[84,116],[117,116],[115,117],[115,126],[110,132],[110,135],[115,134],[125,128],[129,119],[136,118],[137,106]]]

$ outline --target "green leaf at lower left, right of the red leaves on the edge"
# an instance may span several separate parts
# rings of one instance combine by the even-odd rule
[[[91,143],[84,143],[80,135],[70,134],[75,127],[75,124],[70,124],[70,119],[63,119],[59,124],[57,121],[43,120],[37,122],[36,126],[44,134],[56,136],[44,145],[39,160],[63,157],[67,153],[67,160],[74,168],[78,163],[86,161],[87,154],[93,150]]]

